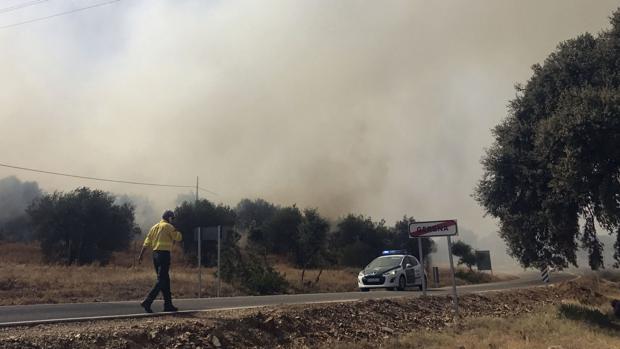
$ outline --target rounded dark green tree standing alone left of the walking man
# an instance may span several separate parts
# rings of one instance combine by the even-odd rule
[[[27,209],[45,258],[51,262],[107,263],[127,249],[136,233],[133,207],[114,205],[114,196],[78,188],[35,200]]]

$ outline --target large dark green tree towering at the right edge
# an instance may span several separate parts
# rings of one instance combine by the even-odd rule
[[[517,86],[493,130],[474,197],[499,218],[524,267],[603,267],[597,224],[620,237],[620,13],[612,28],[562,42]],[[579,224],[579,222],[583,224]],[[620,240],[615,259],[620,260]]]

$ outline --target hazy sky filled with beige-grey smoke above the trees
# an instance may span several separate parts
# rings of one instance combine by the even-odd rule
[[[95,3],[86,1],[84,4]],[[76,6],[0,14],[0,26]],[[490,130],[616,1],[121,1],[0,30],[0,162],[200,186],[216,203],[496,223],[471,198]],[[162,189],[0,168],[47,191]]]

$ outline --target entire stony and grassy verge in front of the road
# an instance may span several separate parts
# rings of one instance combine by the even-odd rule
[[[465,294],[458,319],[450,296],[427,296],[0,328],[0,347],[611,349],[618,290],[591,275]]]

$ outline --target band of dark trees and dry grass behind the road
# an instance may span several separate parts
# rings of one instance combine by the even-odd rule
[[[13,177],[0,180],[0,194],[21,203],[0,217],[0,304],[139,299],[152,285],[149,256],[141,265],[134,260],[146,231],[136,223],[131,198],[86,187],[44,193]],[[202,243],[198,261],[197,227],[222,227],[223,296],[356,291],[357,273],[381,251],[418,253],[418,239],[409,238],[415,219],[408,216],[393,226],[355,214],[332,221],[316,208],[262,199],[243,199],[234,208],[184,201],[174,211],[183,235],[172,254],[175,297],[198,295],[198,265],[201,294],[217,293],[216,243]],[[422,239],[422,247],[429,261],[434,242]],[[468,268],[460,284],[493,280]],[[441,285],[450,280],[442,277]]]

